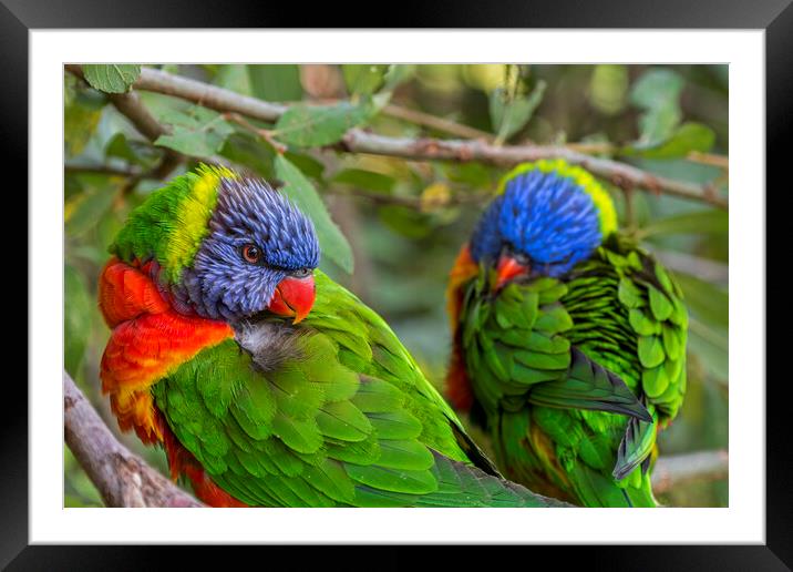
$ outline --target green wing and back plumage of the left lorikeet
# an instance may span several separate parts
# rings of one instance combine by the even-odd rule
[[[301,324],[241,327],[154,386],[215,483],[267,507],[560,504],[485,472],[495,471],[385,323],[320,272],[316,280]]]

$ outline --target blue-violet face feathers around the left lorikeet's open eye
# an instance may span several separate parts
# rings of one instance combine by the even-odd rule
[[[311,222],[264,181],[222,178],[217,204],[193,265],[172,287],[181,311],[237,321],[267,308],[276,286],[319,264]],[[256,245],[258,264],[243,248]]]

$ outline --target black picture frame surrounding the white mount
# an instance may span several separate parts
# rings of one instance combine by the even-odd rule
[[[576,0],[511,0],[498,6],[481,1],[425,2],[390,10],[384,23],[390,28],[621,28],[621,29],[758,29],[765,30],[766,88],[766,185],[779,184],[789,192],[783,142],[793,135],[793,7],[791,0],[739,2],[737,0],[619,0],[580,2]],[[267,2],[200,2],[196,0],[0,0],[0,70],[6,82],[0,88],[0,145],[7,164],[21,175],[18,188],[28,184],[28,33],[51,28],[307,28],[338,25],[350,28],[346,3],[305,6]],[[361,13],[367,13],[361,10]],[[379,19],[383,22],[383,19]],[[363,24],[361,24],[363,25]],[[758,190],[763,192],[763,190]],[[21,193],[19,193],[21,195]],[[28,211],[27,201],[20,210]],[[21,217],[20,217],[21,218]],[[776,244],[766,241],[771,252]],[[777,248],[779,251],[779,248]],[[29,258],[35,253],[28,253]],[[773,259],[768,256],[766,261]],[[21,274],[21,272],[20,272]],[[25,274],[27,276],[27,274]],[[780,299],[780,298],[776,298]],[[28,299],[28,304],[35,300]],[[784,338],[784,336],[783,336]],[[776,338],[779,339],[779,338]],[[34,343],[34,340],[31,340]],[[769,338],[769,341],[771,339]],[[779,341],[777,341],[779,344]],[[768,355],[766,350],[766,355]],[[52,547],[28,545],[28,419],[27,387],[7,382],[3,400],[18,404],[4,408],[0,454],[0,565],[9,570],[145,570],[163,568],[163,548],[143,547]],[[9,381],[7,379],[7,381]],[[759,380],[761,381],[761,380]],[[53,388],[60,387],[53,380]],[[766,384],[766,543],[764,545],[686,547],[579,547],[565,548],[565,561],[580,559],[581,566],[607,570],[791,570],[793,566],[793,451],[784,388],[786,378]],[[239,548],[235,549],[239,550]],[[267,549],[271,551],[271,548]],[[292,549],[293,550],[293,549]],[[542,558],[539,547],[522,549],[524,555]],[[531,552],[529,552],[531,551]],[[247,552],[247,551],[246,551]],[[285,554],[277,558],[280,560]],[[411,551],[391,548],[383,559],[389,568],[404,568]],[[272,552],[269,552],[272,554]],[[288,554],[288,553],[287,553]],[[466,551],[457,551],[466,556]],[[179,550],[179,558],[200,558],[197,547]],[[271,562],[276,562],[272,556]],[[382,558],[382,556],[379,556]],[[525,556],[521,556],[525,558]],[[515,563],[514,559],[511,561]],[[187,565],[187,560],[182,565]],[[447,565],[454,565],[449,560]],[[494,564],[495,565],[495,564]],[[528,565],[528,564],[526,564]],[[383,568],[383,566],[379,566]]]

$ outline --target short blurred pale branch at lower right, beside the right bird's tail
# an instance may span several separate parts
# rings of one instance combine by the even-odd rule
[[[729,460],[723,449],[661,457],[652,469],[652,490],[666,492],[687,481],[725,479]]]

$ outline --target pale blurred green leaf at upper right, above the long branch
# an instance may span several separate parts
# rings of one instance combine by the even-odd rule
[[[639,143],[655,144],[669,139],[680,122],[683,79],[676,72],[652,68],[634,84],[630,102],[645,110],[639,118]]]

